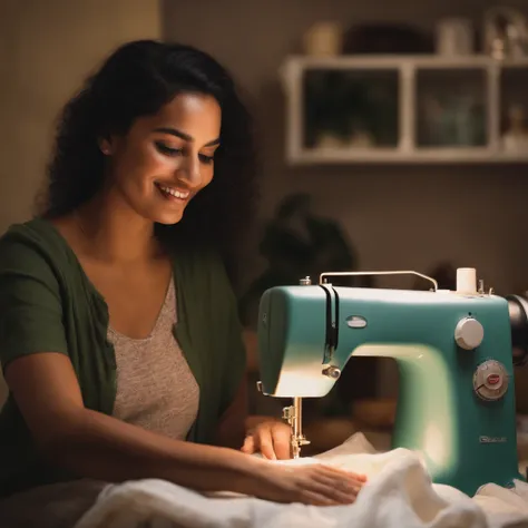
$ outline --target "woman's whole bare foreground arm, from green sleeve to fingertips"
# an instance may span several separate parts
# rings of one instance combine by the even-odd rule
[[[38,448],[81,477],[114,482],[158,478],[202,491],[320,506],[353,502],[365,481],[322,465],[292,471],[236,450],[172,440],[88,410],[65,354],[16,359],[6,379]]]

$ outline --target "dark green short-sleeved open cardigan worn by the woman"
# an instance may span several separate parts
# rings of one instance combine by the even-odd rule
[[[245,371],[236,300],[221,258],[176,251],[178,323],[174,335],[201,389],[188,440],[214,443],[222,413]],[[113,413],[116,358],[107,340],[108,306],[55,226],[41,218],[11,226],[0,238],[0,361],[52,351],[67,354],[85,405]],[[76,478],[37,452],[10,394],[0,412],[0,497]]]

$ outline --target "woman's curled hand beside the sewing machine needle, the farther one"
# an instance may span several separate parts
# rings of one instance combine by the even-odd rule
[[[260,452],[270,460],[287,460],[291,458],[291,436],[292,428],[282,421],[261,421],[247,432],[242,451],[247,454]]]

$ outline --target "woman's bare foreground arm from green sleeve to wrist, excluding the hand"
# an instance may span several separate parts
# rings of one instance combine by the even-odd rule
[[[76,475],[107,481],[160,478],[247,493],[252,473],[262,468],[262,461],[238,451],[172,440],[86,409],[63,354],[13,360],[6,380],[38,448]]]

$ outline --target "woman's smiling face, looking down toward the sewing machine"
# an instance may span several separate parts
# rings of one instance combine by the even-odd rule
[[[180,94],[156,115],[136,119],[125,136],[102,145],[111,192],[144,218],[176,224],[213,179],[221,119],[216,99],[201,94]]]

